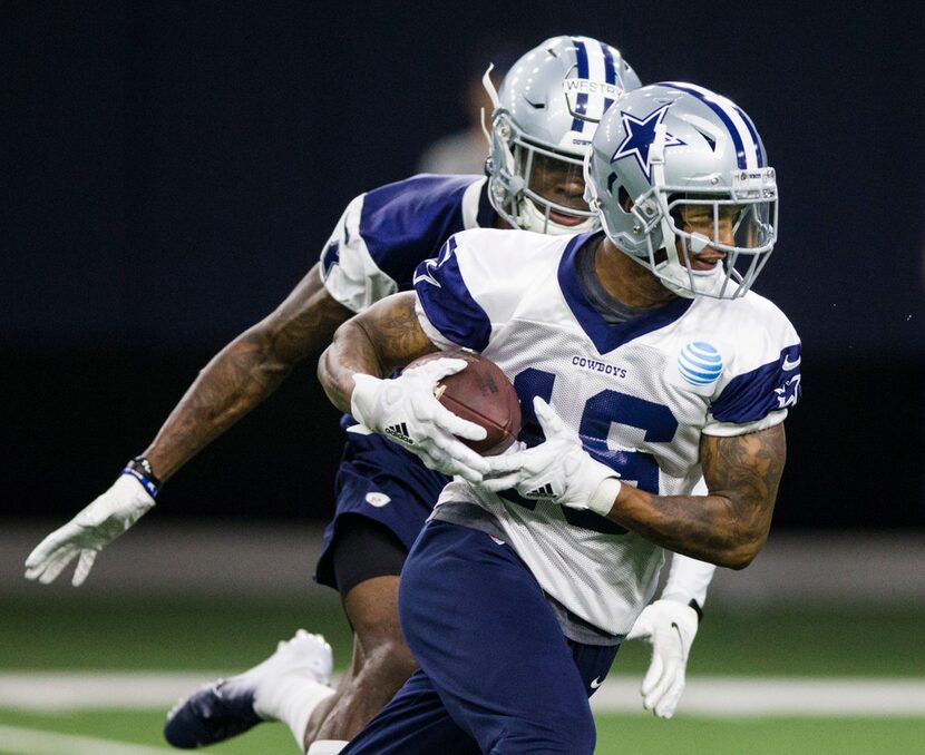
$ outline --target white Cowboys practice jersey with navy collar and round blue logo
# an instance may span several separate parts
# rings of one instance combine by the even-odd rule
[[[782,422],[799,395],[800,343],[754,293],[678,298],[624,323],[604,320],[576,255],[600,236],[466,231],[415,278],[421,326],[440,347],[491,359],[520,398],[528,444],[541,395],[584,448],[624,482],[690,494],[701,433],[734,435]],[[456,479],[440,496],[494,514],[543,589],[612,635],[630,630],[655,589],[662,550],[590,511],[496,496]]]

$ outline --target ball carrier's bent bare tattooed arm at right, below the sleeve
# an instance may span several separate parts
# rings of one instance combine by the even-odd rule
[[[611,518],[675,552],[742,568],[768,537],[787,443],[779,424],[747,435],[704,435],[708,496],[652,496],[623,486]]]

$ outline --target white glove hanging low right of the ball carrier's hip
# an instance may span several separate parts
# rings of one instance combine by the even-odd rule
[[[676,600],[648,605],[626,639],[652,644],[652,663],[642,680],[642,706],[660,718],[671,718],[681,693],[691,644],[697,635],[697,611]]]

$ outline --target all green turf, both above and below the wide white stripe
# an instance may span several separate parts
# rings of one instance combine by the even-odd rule
[[[298,626],[322,631],[343,667],[347,624],[335,599],[80,600],[64,590],[0,597],[0,673],[55,670],[235,671],[265,657]],[[925,609],[777,607],[710,610],[689,666],[734,677],[925,679]],[[641,678],[642,644],[617,657],[612,677]],[[203,680],[208,677],[204,676]],[[160,738],[166,706],[137,710],[0,707],[0,753],[145,755],[169,752]],[[680,714],[670,722],[600,713],[600,754],[925,753],[925,717],[729,717]],[[58,738],[66,736],[67,738]],[[45,737],[45,738],[42,738]],[[81,738],[82,737],[82,738]],[[133,745],[120,744],[133,743]],[[289,731],[266,725],[205,752],[295,753]]]

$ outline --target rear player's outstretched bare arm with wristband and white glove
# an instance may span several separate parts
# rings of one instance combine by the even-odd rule
[[[26,560],[26,577],[51,582],[78,559],[71,581],[80,585],[99,550],[154,506],[162,480],[275,391],[291,367],[328,343],[350,314],[328,294],[318,267],[312,268],[275,312],[203,369],[144,458],[130,462],[109,490],[38,545]]]

